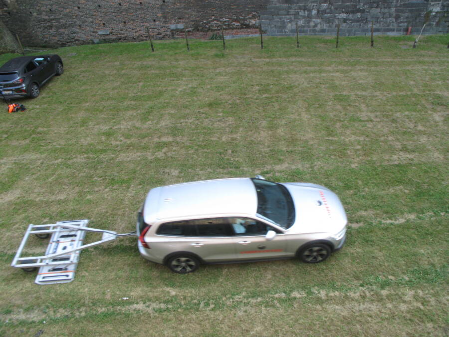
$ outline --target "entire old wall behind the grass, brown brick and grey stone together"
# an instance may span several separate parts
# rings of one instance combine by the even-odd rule
[[[134,41],[180,35],[208,38],[221,25],[226,35],[301,33],[377,34],[448,32],[449,0],[0,0],[0,20],[26,46]],[[259,16],[260,15],[260,16]],[[338,21],[337,21],[338,20]]]

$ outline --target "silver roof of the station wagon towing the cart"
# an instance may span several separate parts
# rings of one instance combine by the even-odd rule
[[[226,216],[254,216],[257,194],[249,178],[227,178],[157,187],[148,193],[144,220]]]

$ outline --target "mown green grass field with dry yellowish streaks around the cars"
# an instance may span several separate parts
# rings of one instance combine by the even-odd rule
[[[0,113],[0,336],[448,336],[448,39],[50,51],[64,74]],[[346,246],[177,275],[122,238],[83,251],[69,284],[10,267],[30,223],[129,232],[150,188],[255,174],[334,190]]]

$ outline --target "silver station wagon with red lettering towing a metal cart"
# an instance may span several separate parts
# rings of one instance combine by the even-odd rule
[[[262,176],[157,187],[138,212],[140,254],[185,274],[200,264],[326,260],[346,239],[335,193]]]

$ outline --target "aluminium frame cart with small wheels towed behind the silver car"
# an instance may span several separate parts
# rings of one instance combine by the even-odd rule
[[[30,224],[12,260],[11,266],[32,272],[39,267],[35,283],[39,285],[67,283],[75,278],[75,270],[80,251],[115,240],[117,236],[131,236],[134,233],[117,234],[117,232],[87,227],[89,220],[59,221],[56,224]],[[83,245],[86,232],[103,233],[101,240]],[[50,236],[45,255],[21,257],[26,242],[31,234],[40,239]]]

